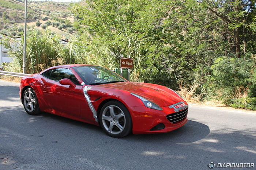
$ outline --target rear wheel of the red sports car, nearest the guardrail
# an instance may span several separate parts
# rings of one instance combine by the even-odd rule
[[[37,95],[33,89],[28,88],[25,90],[22,96],[22,103],[25,111],[30,115],[38,115],[41,113],[38,105]]]

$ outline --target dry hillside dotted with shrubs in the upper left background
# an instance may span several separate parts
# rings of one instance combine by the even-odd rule
[[[71,3],[27,1],[27,28],[48,29],[69,39],[75,31]],[[24,1],[0,0],[0,33],[20,36],[24,30]]]

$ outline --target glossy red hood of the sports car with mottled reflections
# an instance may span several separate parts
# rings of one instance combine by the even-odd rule
[[[138,94],[139,96],[142,96],[161,107],[184,101],[172,90],[157,84],[141,82],[118,82],[97,86],[120,89],[130,93]]]

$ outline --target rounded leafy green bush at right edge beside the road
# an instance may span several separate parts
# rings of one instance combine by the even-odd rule
[[[247,59],[246,59],[247,58]],[[246,57],[217,58],[211,66],[212,95],[234,108],[253,109],[255,106],[255,60]]]

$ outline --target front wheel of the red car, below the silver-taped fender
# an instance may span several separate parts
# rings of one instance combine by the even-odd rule
[[[104,104],[99,113],[99,123],[109,136],[122,138],[132,131],[132,119],[128,109],[119,101]]]

